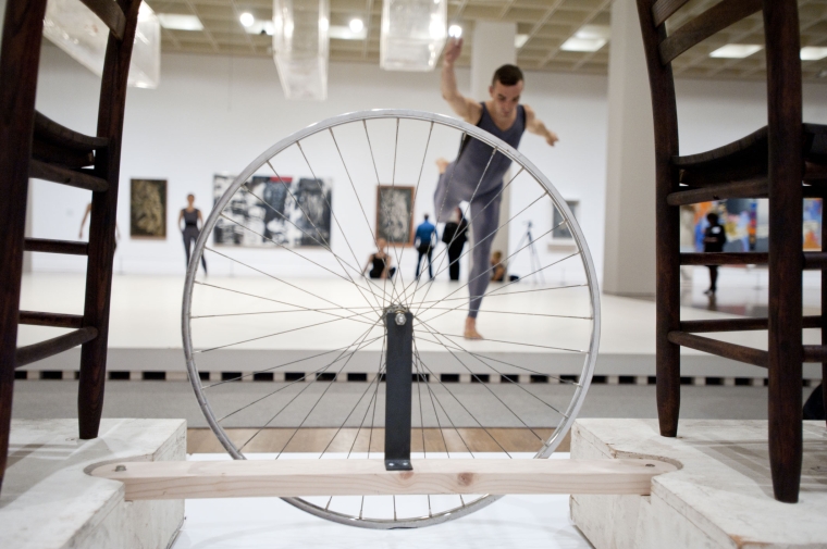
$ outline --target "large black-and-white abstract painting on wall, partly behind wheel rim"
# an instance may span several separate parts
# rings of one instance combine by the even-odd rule
[[[234,176],[215,175],[215,202]],[[255,175],[233,196],[215,223],[219,246],[324,247],[330,244],[330,182],[310,177]]]

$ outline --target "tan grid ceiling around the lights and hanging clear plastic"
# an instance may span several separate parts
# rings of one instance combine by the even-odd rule
[[[670,20],[679,26],[718,0],[690,0]],[[257,20],[272,17],[272,0],[147,0],[158,13],[197,15],[203,30],[163,29],[162,51],[233,55],[271,55],[271,37],[245,32],[238,17],[250,12]],[[346,26],[354,17],[365,21],[367,38],[331,39],[331,61],[379,63],[382,0],[330,0],[331,25]],[[563,42],[583,25],[609,25],[612,0],[449,0],[448,18],[467,38],[476,21],[509,21],[528,39],[519,48],[518,64],[532,71],[606,74],[609,43],[595,52],[564,51]],[[800,0],[802,46],[827,46],[827,0]],[[675,73],[692,78],[758,79],[764,77],[764,54],[745,59],[715,59],[709,52],[727,43],[763,43],[761,14],[704,40],[674,62]],[[466,40],[459,65],[470,62],[471,40]],[[802,63],[804,79],[827,82],[827,58]]]

